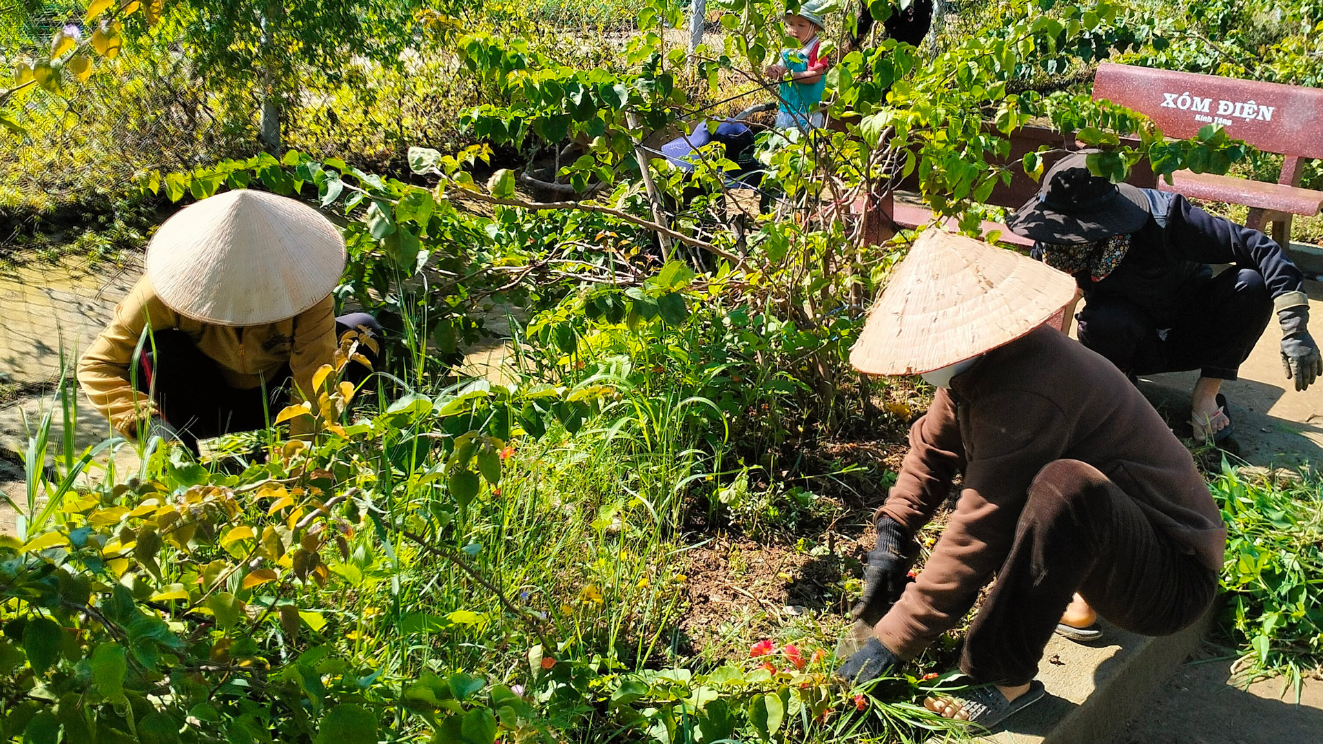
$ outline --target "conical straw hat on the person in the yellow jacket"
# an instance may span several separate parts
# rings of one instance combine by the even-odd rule
[[[344,263],[344,237],[320,212],[249,189],[181,209],[147,246],[161,302],[220,326],[294,318],[331,294]]]

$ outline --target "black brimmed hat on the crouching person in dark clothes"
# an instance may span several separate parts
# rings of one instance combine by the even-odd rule
[[[1008,226],[1039,242],[1076,245],[1139,230],[1148,221],[1148,199],[1130,184],[1089,172],[1085,150],[1057,162],[1039,195],[1016,209]]]

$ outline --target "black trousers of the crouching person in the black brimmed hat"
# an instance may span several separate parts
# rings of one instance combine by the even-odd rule
[[[1271,315],[1263,275],[1232,267],[1201,282],[1171,328],[1118,297],[1089,298],[1076,318],[1080,342],[1126,375],[1201,369],[1204,377],[1234,380]]]

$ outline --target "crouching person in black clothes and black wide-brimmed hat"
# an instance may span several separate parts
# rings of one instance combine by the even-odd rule
[[[1236,379],[1274,312],[1286,379],[1304,391],[1323,376],[1304,275],[1282,246],[1179,193],[1095,176],[1091,152],[1062,158],[1008,222],[1076,278],[1084,346],[1129,375],[1199,369],[1189,424],[1203,441],[1232,436],[1222,383]],[[1211,263],[1230,267],[1213,275]]]

